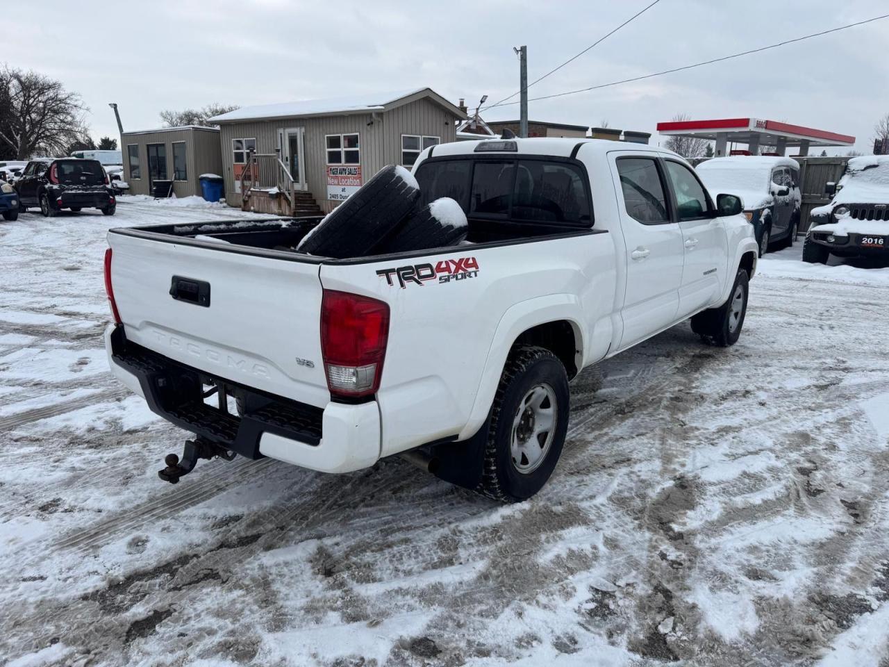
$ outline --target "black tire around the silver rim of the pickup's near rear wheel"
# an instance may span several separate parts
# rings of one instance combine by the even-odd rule
[[[536,390],[547,393],[541,409],[552,411],[555,424],[551,427],[552,438],[549,439],[549,435],[544,437],[545,446],[541,446],[539,436],[537,438],[537,445],[543,451],[536,467],[529,469],[525,466],[525,471],[520,471],[519,467],[525,465],[527,459],[522,458],[517,462],[513,458],[513,438],[518,437],[519,429],[533,428],[534,422],[530,422],[529,426],[524,415],[517,428],[513,427],[513,422],[520,413],[525,413],[525,398]],[[482,463],[482,482],[477,488],[478,493],[501,502],[519,502],[541,490],[562,454],[565,433],[568,430],[569,399],[568,375],[556,355],[537,347],[521,347],[512,351],[503,369],[491,408],[490,428]],[[546,407],[547,402],[549,408]],[[530,436],[525,445],[534,439]],[[525,457],[525,454],[521,456]]]

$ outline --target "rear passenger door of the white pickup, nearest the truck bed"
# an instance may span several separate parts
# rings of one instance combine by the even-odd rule
[[[658,157],[629,151],[610,156],[627,255],[619,346],[625,348],[676,321],[684,249]]]

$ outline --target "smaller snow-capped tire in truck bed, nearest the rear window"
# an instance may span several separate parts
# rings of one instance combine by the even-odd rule
[[[466,237],[468,229],[461,206],[451,197],[441,197],[402,222],[376,253],[406,253],[457,245]]]

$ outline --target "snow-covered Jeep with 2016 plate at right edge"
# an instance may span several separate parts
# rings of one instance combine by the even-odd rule
[[[889,155],[853,157],[826,192],[833,201],[812,209],[803,261],[825,264],[831,254],[889,259]]]

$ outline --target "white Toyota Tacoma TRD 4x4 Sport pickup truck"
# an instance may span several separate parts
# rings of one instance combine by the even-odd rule
[[[466,141],[412,173],[422,201],[460,203],[466,240],[332,259],[292,249],[317,218],[110,230],[112,372],[197,436],[161,478],[213,456],[347,472],[403,454],[515,502],[555,468],[582,368],[688,317],[738,340],[757,241],[681,157]]]

